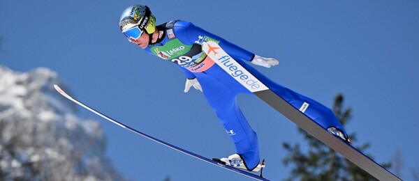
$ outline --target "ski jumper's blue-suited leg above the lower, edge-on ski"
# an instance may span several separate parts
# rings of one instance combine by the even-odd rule
[[[226,85],[225,82],[219,80],[232,78],[228,74],[219,75],[225,72],[214,71],[214,69],[205,72],[207,74],[197,74],[197,77],[208,103],[233,139],[237,153],[242,155],[248,168],[256,167],[260,160],[256,132],[251,129],[237,105],[237,92],[234,87],[231,87],[234,84]],[[237,83],[237,85],[240,84]]]

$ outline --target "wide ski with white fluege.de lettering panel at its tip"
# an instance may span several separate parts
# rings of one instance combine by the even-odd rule
[[[261,100],[269,104],[272,108],[279,111],[289,120],[293,121],[297,126],[323,142],[328,147],[339,152],[346,159],[359,166],[367,173],[371,174],[378,180],[401,180],[396,175],[388,171],[380,164],[374,162],[364,153],[346,143],[342,139],[330,134],[323,129],[318,123],[307,117],[300,110],[293,107],[276,93],[270,90],[263,82],[259,81],[249,71],[242,67],[237,61],[229,56],[216,42],[204,42],[203,50],[207,56],[225,70],[231,77],[236,79],[245,88],[258,96]],[[234,67],[234,68],[233,68]],[[240,71],[241,76],[234,76],[233,72]]]

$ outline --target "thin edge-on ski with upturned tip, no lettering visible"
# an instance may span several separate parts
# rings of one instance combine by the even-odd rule
[[[148,134],[145,134],[143,132],[139,132],[138,130],[133,129],[132,127],[128,127],[127,125],[124,125],[122,123],[119,123],[117,120],[114,120],[114,119],[112,119],[112,118],[110,118],[108,116],[105,116],[105,114],[100,113],[99,111],[96,111],[95,109],[87,106],[86,104],[83,104],[82,102],[76,100],[75,98],[71,97],[66,92],[64,92],[59,86],[54,85],[54,88],[61,95],[63,95],[64,97],[66,97],[68,100],[71,100],[71,101],[75,102],[76,104],[79,104],[81,107],[84,107],[85,109],[87,109],[87,110],[89,110],[89,111],[91,111],[93,113],[96,113],[96,115],[101,116],[102,118],[105,118],[106,120],[109,120],[110,122],[115,123],[116,125],[119,125],[120,127],[123,127],[125,129],[128,129],[129,131],[134,132],[135,134],[139,134],[140,136],[144,136],[147,139],[150,139],[150,140],[155,141],[157,143],[160,143],[162,145],[166,145],[168,148],[172,148],[173,150],[177,150],[179,152],[182,152],[182,153],[184,153],[186,155],[189,155],[191,157],[194,157],[196,159],[200,159],[201,161],[204,161],[204,162],[207,162],[207,163],[210,163],[210,164],[214,164],[216,166],[220,166],[221,168],[226,168],[229,171],[233,171],[235,173],[240,173],[241,175],[245,175],[245,176],[247,176],[249,178],[253,178],[254,180],[269,181],[266,178],[263,178],[262,177],[262,171],[260,171],[260,176],[259,175],[256,175],[256,174],[253,174],[253,173],[250,173],[250,172],[247,172],[247,171],[243,171],[243,170],[240,170],[238,168],[234,168],[232,166],[225,165],[225,164],[223,164],[221,162],[216,162],[216,160],[208,159],[207,157],[203,157],[201,155],[198,155],[196,153],[190,152],[188,150],[184,150],[184,149],[179,148],[179,147],[177,147],[175,145],[172,145],[170,143],[167,143],[166,141],[162,141],[160,139],[154,138],[153,136],[149,136]]]

